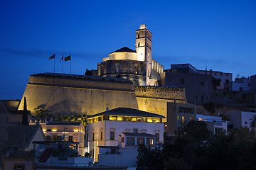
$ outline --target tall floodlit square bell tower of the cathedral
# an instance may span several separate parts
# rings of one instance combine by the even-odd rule
[[[152,33],[146,28],[146,24],[139,26],[136,30],[135,49],[140,61],[146,62],[146,85],[149,85],[149,77],[152,69]]]

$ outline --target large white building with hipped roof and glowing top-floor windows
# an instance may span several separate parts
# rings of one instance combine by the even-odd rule
[[[155,147],[164,142],[163,118],[132,108],[115,108],[91,115],[86,125],[88,151],[97,162],[99,147],[131,148],[142,143]]]

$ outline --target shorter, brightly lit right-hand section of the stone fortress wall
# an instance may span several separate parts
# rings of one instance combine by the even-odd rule
[[[185,89],[164,86],[135,86],[139,110],[164,115],[167,102],[186,103]],[[166,117],[167,118],[167,117]]]

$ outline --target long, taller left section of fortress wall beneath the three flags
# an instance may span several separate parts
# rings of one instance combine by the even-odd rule
[[[93,115],[118,107],[138,109],[132,82],[119,78],[35,74],[28,80],[24,97],[28,110],[33,112],[39,106],[60,115]]]

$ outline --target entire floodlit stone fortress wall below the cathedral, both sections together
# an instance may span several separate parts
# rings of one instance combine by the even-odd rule
[[[70,74],[33,74],[26,97],[28,110],[45,107],[54,115],[93,115],[118,107],[135,108],[166,116],[167,102],[186,103],[185,89],[135,86],[127,79]]]

